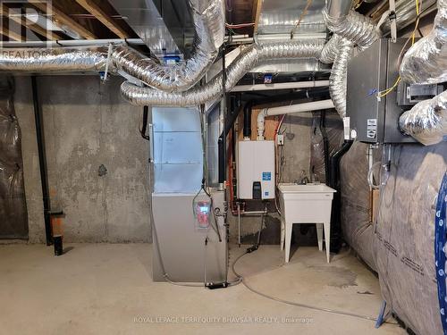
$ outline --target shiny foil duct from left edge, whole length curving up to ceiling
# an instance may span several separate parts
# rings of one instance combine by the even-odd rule
[[[110,54],[115,70],[121,70],[153,88],[168,92],[194,86],[215,61],[225,33],[223,0],[194,0],[196,37],[189,59],[163,65],[127,46],[113,46]],[[103,71],[108,59],[106,46],[89,48],[4,49],[1,71]],[[109,70],[112,70],[110,68]]]

